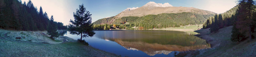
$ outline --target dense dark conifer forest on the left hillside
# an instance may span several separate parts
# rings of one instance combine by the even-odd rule
[[[21,0],[0,0],[0,29],[18,31],[45,31],[49,26],[49,17],[39,11],[31,0],[27,3]],[[67,29],[61,22],[54,21],[58,29]]]

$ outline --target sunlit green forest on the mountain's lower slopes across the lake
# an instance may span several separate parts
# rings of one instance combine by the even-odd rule
[[[167,28],[167,27],[180,27],[186,25],[203,24],[207,18],[214,14],[197,14],[194,12],[183,12],[183,13],[163,13],[163,14],[149,14],[146,16],[127,16],[116,19],[114,16],[97,20],[93,23],[94,29],[104,29],[106,24],[116,24],[117,27],[122,29],[133,29],[136,26],[137,29],[156,29],[156,28]],[[115,20],[113,23],[104,23]],[[107,25],[108,27],[108,25]]]

